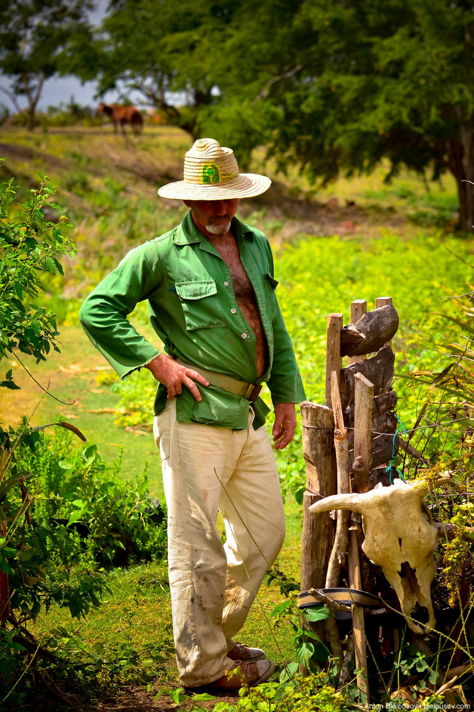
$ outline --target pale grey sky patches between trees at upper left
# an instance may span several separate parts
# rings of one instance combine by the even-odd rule
[[[92,23],[99,24],[99,22],[104,17],[109,0],[96,0],[96,9],[90,13],[90,19]],[[8,88],[8,79],[2,78],[1,84],[4,84]],[[93,98],[95,94],[95,82],[87,82],[81,84],[75,77],[61,77],[61,78],[51,78],[45,82],[43,91],[41,93],[41,98],[38,103],[38,108],[45,109],[48,106],[58,106],[61,102],[68,104],[70,102],[71,95],[74,95],[75,102],[81,105],[91,105],[97,104],[97,100]],[[106,95],[106,100],[113,102],[117,100],[117,92],[109,92]],[[0,103],[8,106],[10,110],[14,111],[14,105],[9,100],[8,96],[0,91]],[[18,97],[18,104],[23,107],[26,106],[26,101],[22,97]]]

